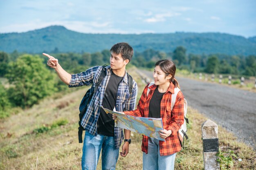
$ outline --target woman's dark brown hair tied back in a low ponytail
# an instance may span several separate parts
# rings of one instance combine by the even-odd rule
[[[172,77],[170,79],[170,82],[173,82],[175,87],[179,87],[180,88],[180,85],[179,85],[178,81],[174,77],[175,76],[175,72],[176,72],[176,66],[173,63],[173,61],[171,61],[169,59],[160,60],[160,61],[157,61],[155,63],[155,66],[157,66],[157,65],[159,65],[161,70],[165,73],[165,77],[168,76],[169,74],[171,74]]]

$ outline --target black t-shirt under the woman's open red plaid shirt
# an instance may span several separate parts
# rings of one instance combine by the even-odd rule
[[[158,87],[155,89],[155,92],[149,102],[149,107],[148,107],[149,118],[160,118],[160,104],[164,94],[165,92],[160,93],[158,91]]]

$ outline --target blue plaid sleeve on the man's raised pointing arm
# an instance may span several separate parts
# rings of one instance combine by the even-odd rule
[[[83,85],[90,85],[92,84],[92,80],[94,75],[101,69],[101,66],[95,66],[89,68],[85,72],[81,72],[78,74],[71,74],[71,80],[68,87],[79,87]]]

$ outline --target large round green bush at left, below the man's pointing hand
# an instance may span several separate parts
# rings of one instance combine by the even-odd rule
[[[22,108],[31,107],[56,91],[56,75],[38,56],[20,56],[16,62],[9,63],[5,76],[12,85],[8,90],[11,102]]]

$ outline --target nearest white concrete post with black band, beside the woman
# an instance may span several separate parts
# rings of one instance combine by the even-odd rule
[[[211,120],[202,124],[204,170],[219,170],[220,164],[216,154],[219,150],[218,126]]]

